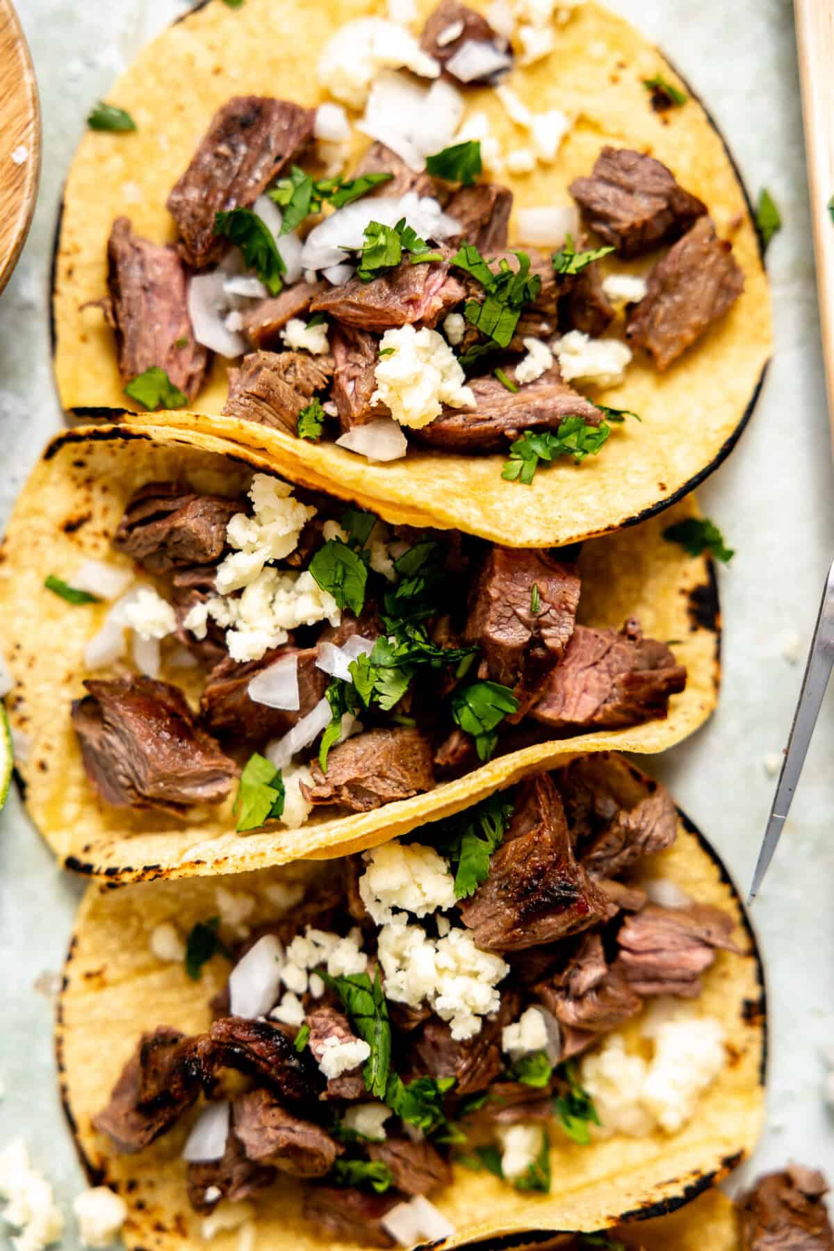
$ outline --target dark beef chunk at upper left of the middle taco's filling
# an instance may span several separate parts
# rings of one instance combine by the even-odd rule
[[[149,573],[214,565],[226,545],[226,527],[240,509],[240,499],[200,495],[178,482],[149,482],[131,495],[113,545]],[[214,589],[214,568],[199,570],[189,582]]]

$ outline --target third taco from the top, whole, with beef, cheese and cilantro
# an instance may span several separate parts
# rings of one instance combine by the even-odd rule
[[[91,886],[65,975],[63,1096],[129,1246],[228,1203],[310,1251],[608,1228],[761,1125],[740,901],[613,753],[326,864]]]

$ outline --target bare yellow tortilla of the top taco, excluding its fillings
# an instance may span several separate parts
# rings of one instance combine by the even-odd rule
[[[486,0],[474,0],[485,8]],[[421,16],[433,8],[420,0]],[[55,370],[65,409],[113,418],[130,408],[116,367],[115,343],[98,308],[106,293],[106,243],[128,214],[150,239],[174,238],[165,199],[189,164],[214,111],[244,93],[280,95],[314,105],[325,99],[315,65],[338,26],[384,11],[381,0],[221,0],[184,18],[144,49],[108,99],[128,109],[134,134],[89,133],[66,184],[58,244]],[[678,75],[633,26],[591,3],[554,28],[550,56],[518,66],[506,83],[535,111],[561,109],[575,123],[553,165],[531,175],[501,174],[516,208],[573,203],[568,184],[586,174],[610,143],[650,151],[709,206],[721,236],[731,238],[745,274],[743,296],[726,317],[665,374],[639,354],[625,382],[594,399],[640,414],[618,427],[599,457],[581,465],[560,459],[530,487],[504,482],[503,455],[474,457],[414,447],[403,460],[374,465],[333,443],[310,443],[254,423],[220,417],[228,362],[216,360],[193,413],[155,414],[154,424],[223,434],[265,452],[299,474],[345,497],[388,502],[403,520],[459,525],[500,543],[571,543],[641,520],[691,490],[728,454],[758,393],[770,354],[770,300],[744,188],[709,116],[694,98],[663,114],[650,108],[643,79]],[[686,89],[688,90],[688,89]],[[490,89],[468,90],[469,110],[488,114],[504,151],[529,143]],[[355,155],[360,144],[356,141]],[[510,240],[516,241],[514,221]],[[654,258],[608,270],[644,273]],[[615,323],[621,333],[621,319]],[[96,412],[98,410],[98,412]]]

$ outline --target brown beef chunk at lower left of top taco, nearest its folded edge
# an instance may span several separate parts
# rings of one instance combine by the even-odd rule
[[[299,413],[333,374],[333,357],[301,352],[253,352],[229,370],[224,417],[273,425],[296,434]]]

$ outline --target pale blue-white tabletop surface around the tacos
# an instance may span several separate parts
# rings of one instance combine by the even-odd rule
[[[60,424],[46,291],[60,186],[85,114],[140,41],[185,8],[178,0],[20,0],[41,91],[44,165],[31,236],[0,296],[0,518]],[[620,0],[615,8],[696,84],[750,190],[769,186],[785,220],[768,258],[776,355],[740,447],[701,492],[736,549],[720,573],[721,706],[694,739],[653,762],[746,886],[775,784],[763,762],[784,744],[801,677],[801,659],[791,664],[783,651],[804,653],[834,553],[791,10],[786,0]],[[834,1043],[833,751],[829,699],[754,914],[768,965],[773,1050],[769,1128],[753,1165],[793,1157],[821,1165],[831,1180],[820,1047]],[[23,1133],[66,1212],[81,1175],[55,1088],[51,1002],[35,982],[43,986],[43,975],[60,968],[80,893],[79,882],[55,869],[13,794],[0,816],[0,1146]],[[69,1217],[63,1246],[76,1245]]]

